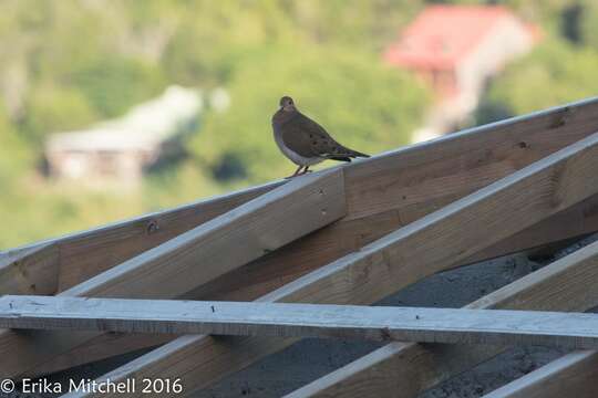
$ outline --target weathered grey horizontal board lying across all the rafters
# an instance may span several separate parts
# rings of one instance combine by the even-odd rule
[[[597,314],[540,311],[8,295],[0,326],[598,348]]]

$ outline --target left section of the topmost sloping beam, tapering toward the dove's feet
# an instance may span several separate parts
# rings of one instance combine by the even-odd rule
[[[56,294],[281,184],[254,187],[0,251],[0,294]]]

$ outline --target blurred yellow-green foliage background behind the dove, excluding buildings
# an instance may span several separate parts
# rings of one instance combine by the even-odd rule
[[[425,0],[4,0],[0,12],[0,250],[279,178],[293,166],[271,139],[281,95],[349,146],[409,142],[431,103],[382,61]],[[591,0],[503,3],[544,40],[493,82],[476,124],[595,95]],[[43,142],[125,113],[169,84],[224,87],[188,156],[141,187],[90,190],[43,177]]]

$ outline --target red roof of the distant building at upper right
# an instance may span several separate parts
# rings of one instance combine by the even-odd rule
[[[514,14],[499,6],[427,7],[384,57],[393,64],[419,69],[452,69],[503,18]]]

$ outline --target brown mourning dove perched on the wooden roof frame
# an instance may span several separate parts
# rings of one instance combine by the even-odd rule
[[[299,166],[290,177],[303,175],[310,166],[326,159],[351,161],[355,157],[370,157],[337,143],[322,126],[300,113],[289,96],[280,98],[280,108],[272,116],[272,129],[280,151]]]

